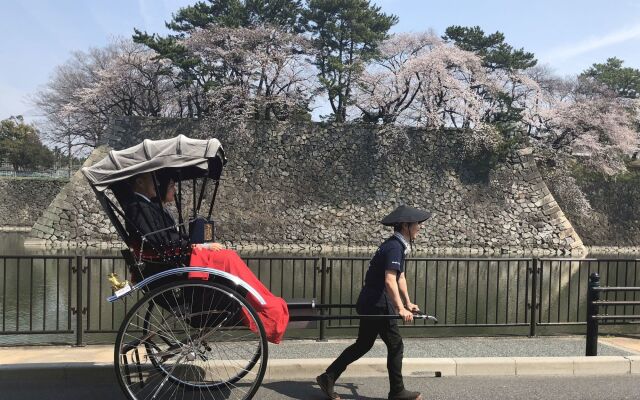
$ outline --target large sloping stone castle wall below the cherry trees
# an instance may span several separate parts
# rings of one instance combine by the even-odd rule
[[[142,138],[217,137],[228,164],[214,218],[236,247],[370,248],[388,235],[378,221],[396,205],[433,217],[417,240],[433,253],[567,254],[583,250],[536,168],[520,150],[495,166],[466,158],[464,133],[381,130],[371,126],[203,127],[196,121],[123,119],[106,146]],[[117,244],[84,177],[73,177],[32,230],[47,244]]]

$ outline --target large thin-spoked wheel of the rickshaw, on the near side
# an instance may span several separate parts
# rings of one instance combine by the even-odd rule
[[[127,313],[115,344],[132,399],[251,399],[266,371],[260,318],[235,290],[207,281],[152,290]]]

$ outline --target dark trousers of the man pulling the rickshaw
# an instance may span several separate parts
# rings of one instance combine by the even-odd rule
[[[380,338],[387,345],[387,370],[389,371],[389,391],[398,393],[404,389],[402,382],[402,357],[404,344],[400,329],[395,320],[363,319],[360,320],[358,338],[347,347],[342,354],[327,368],[327,375],[334,381],[347,369],[347,366],[367,354],[373,343]]]

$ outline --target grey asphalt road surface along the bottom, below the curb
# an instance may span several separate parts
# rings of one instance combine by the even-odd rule
[[[640,398],[640,377],[443,377],[405,378],[405,385],[419,390],[425,400],[499,399],[580,399],[622,400]],[[384,378],[345,378],[337,392],[345,400],[384,400],[388,382]],[[78,379],[75,385],[61,386],[54,379],[39,382],[28,377],[20,381],[0,381],[3,400],[120,400],[125,399],[118,384],[108,376]],[[254,397],[260,400],[323,400],[315,382],[264,381]]]

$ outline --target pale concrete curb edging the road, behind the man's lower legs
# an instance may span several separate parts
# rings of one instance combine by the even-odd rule
[[[265,379],[313,380],[331,362],[332,358],[270,360]],[[402,369],[407,377],[640,375],[640,356],[405,358]],[[351,364],[343,377],[387,377],[387,359],[362,358]],[[0,365],[0,382],[54,380],[71,384],[78,379],[92,383],[113,382],[113,364],[65,362]]]

